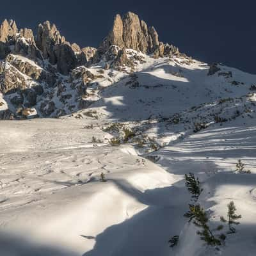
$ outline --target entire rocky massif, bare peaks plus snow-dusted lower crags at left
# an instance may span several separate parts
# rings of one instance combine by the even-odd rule
[[[127,49],[137,53],[127,56]],[[106,70],[130,68],[134,72],[138,61],[143,61],[141,54],[156,59],[180,53],[177,47],[159,42],[156,29],[148,28],[131,12],[123,18],[116,15],[98,49],[71,44],[49,21],[39,24],[34,35],[31,29],[19,29],[15,21],[4,20],[0,27],[0,93],[5,107],[0,118],[19,118],[24,109],[35,109],[31,111],[35,116],[56,117],[84,108],[90,104],[84,100],[86,88],[100,76],[88,68],[100,65]]]

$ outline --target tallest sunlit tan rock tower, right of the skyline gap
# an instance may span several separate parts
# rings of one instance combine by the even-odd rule
[[[146,22],[140,20],[138,15],[132,12],[128,12],[123,18],[116,15],[113,28],[98,49],[99,54],[106,53],[111,45],[116,45],[120,49],[125,47],[143,53],[154,53],[155,58],[174,54],[172,47],[166,47],[159,42],[156,29],[148,28]]]

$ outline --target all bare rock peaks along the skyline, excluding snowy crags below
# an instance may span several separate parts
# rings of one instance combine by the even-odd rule
[[[99,47],[100,56],[112,45],[123,49],[134,49],[147,54],[154,54],[155,58],[177,54],[179,49],[158,40],[154,27],[148,28],[138,15],[128,12],[123,19],[116,15],[113,28]],[[60,34],[55,24],[45,21],[38,25],[36,36],[31,29],[18,29],[15,21],[4,20],[0,28],[0,58],[8,54],[19,54],[36,63],[49,60],[51,65],[57,65],[58,72],[67,75],[72,69],[80,65],[90,65],[99,61],[97,49],[93,47],[79,47],[70,44],[65,36]]]

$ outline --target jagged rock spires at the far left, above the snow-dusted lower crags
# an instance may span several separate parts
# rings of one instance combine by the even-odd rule
[[[0,26],[0,59],[12,52],[28,57],[36,62],[49,60],[52,65],[57,65],[61,74],[67,75],[70,70],[86,65],[97,50],[93,47],[81,49],[77,44],[70,44],[55,24],[48,20],[38,25],[36,37],[31,29],[17,29],[13,20],[4,20]]]

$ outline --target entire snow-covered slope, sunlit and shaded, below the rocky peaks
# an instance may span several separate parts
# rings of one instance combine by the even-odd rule
[[[1,122],[1,255],[254,255],[256,76],[222,65],[209,76],[207,64],[184,56],[127,54],[144,60],[134,72],[88,68],[100,74],[88,108]],[[239,159],[250,174],[236,173]],[[189,172],[212,226],[231,200],[243,217],[218,250],[184,218]]]

